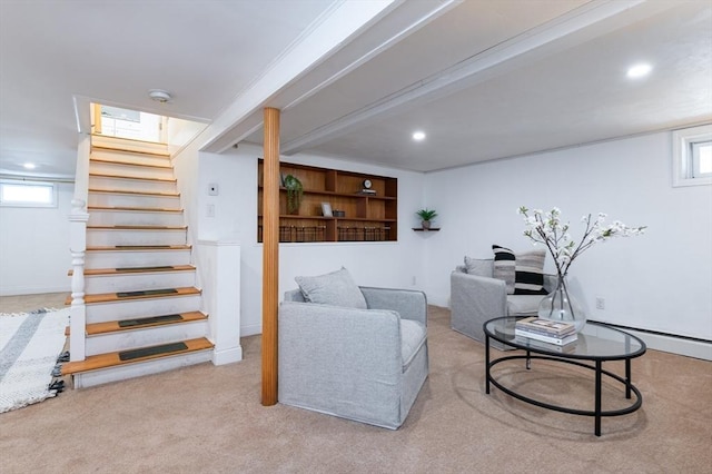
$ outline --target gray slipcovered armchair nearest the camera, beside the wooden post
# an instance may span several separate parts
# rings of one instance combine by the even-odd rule
[[[279,402],[397,429],[428,374],[422,292],[360,287],[368,309],[279,306]]]

